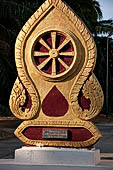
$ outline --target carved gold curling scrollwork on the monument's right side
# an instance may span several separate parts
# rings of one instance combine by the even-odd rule
[[[79,86],[77,87],[75,83],[75,88],[79,89]],[[103,106],[104,98],[103,98],[103,91],[101,89],[101,86],[96,79],[95,75],[92,73],[89,77],[89,79],[85,82],[85,84],[82,87],[82,92],[86,99],[90,99],[90,109],[89,110],[82,110],[78,103],[78,95],[80,90],[77,90],[74,92],[74,87],[72,88],[71,95],[71,103],[72,103],[72,109],[77,117],[83,120],[89,120],[94,118],[98,113],[101,111],[101,108]]]

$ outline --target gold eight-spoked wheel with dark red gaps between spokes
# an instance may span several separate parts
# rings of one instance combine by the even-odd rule
[[[76,46],[72,38],[59,31],[49,31],[35,41],[33,57],[38,71],[56,78],[67,73],[76,60]]]

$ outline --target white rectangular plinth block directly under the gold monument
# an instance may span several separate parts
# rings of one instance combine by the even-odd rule
[[[55,147],[22,147],[15,151],[15,161],[21,164],[39,165],[97,165],[100,162],[99,150],[55,148]]]

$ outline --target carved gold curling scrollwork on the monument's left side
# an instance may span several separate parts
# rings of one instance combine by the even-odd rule
[[[22,111],[22,107],[26,102],[26,89],[22,85],[22,82],[17,77],[12,92],[10,96],[10,108],[13,114],[19,119],[31,119],[37,113],[37,100],[36,97],[33,100],[34,95],[31,97],[32,103],[31,108],[26,108],[25,111]]]

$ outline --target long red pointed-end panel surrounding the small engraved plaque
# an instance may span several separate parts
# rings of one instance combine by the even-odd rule
[[[68,141],[76,141],[76,142],[80,142],[80,141],[86,141],[90,138],[93,137],[93,134],[85,128],[46,128],[46,127],[33,127],[33,126],[29,126],[26,129],[24,129],[24,131],[22,132],[22,134],[24,136],[26,136],[28,139],[32,139],[32,140],[46,140],[43,139],[43,129],[50,129],[50,130],[68,130],[69,136],[68,136]],[[47,139],[48,140],[48,139]],[[59,139],[49,139],[49,141],[53,141],[53,140],[59,140]]]

